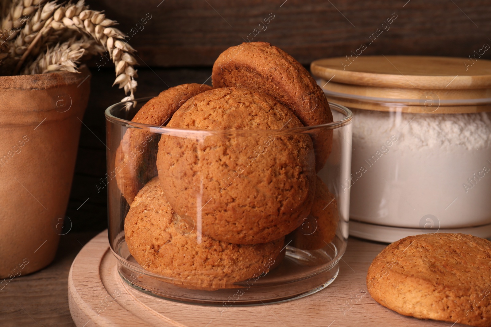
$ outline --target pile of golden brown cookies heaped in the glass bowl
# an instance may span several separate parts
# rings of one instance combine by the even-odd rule
[[[128,129],[115,160],[130,203],[130,253],[195,289],[266,275],[286,235],[290,246],[322,249],[338,222],[334,196],[316,176],[332,130],[301,128],[332,114],[305,68],[269,43],[243,43],[220,54],[212,80],[213,88],[179,85],[143,105],[133,122],[169,128],[161,137]]]

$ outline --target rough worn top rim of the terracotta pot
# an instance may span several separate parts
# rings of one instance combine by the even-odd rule
[[[0,90],[45,90],[59,87],[60,85],[81,83],[91,75],[86,65],[80,66],[79,71],[80,73],[55,72],[0,76]]]

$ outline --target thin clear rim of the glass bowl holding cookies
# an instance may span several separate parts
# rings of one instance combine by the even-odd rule
[[[165,127],[165,126],[157,126],[157,125],[148,125],[148,124],[142,124],[142,123],[135,123],[135,122],[132,122],[132,121],[128,121],[128,120],[125,120],[125,119],[122,119],[122,118],[118,118],[114,115],[112,115],[111,113],[111,110],[113,108],[116,108],[118,106],[127,106],[127,105],[135,105],[136,102],[140,102],[140,101],[148,101],[152,98],[154,98],[155,96],[152,96],[152,97],[144,97],[144,98],[138,98],[138,99],[135,99],[135,100],[129,100],[129,101],[122,101],[122,102],[117,102],[117,103],[114,103],[112,105],[110,105],[105,111],[104,111],[104,114],[106,116],[106,119],[111,122],[111,123],[115,123],[115,124],[118,124],[118,125],[124,125],[124,126],[128,126],[128,127],[134,127],[134,128],[139,128],[139,129],[145,129],[145,130],[150,130],[152,132],[158,132],[158,133],[166,133],[166,132],[170,132],[170,131],[178,131],[178,130],[185,130],[185,131],[190,131],[189,128],[179,128],[179,127]],[[316,128],[323,128],[323,129],[336,129],[336,128],[339,128],[339,127],[342,127],[342,126],[346,126],[348,124],[350,124],[351,120],[353,119],[353,113],[351,112],[350,109],[348,109],[347,107],[341,105],[341,104],[337,104],[337,103],[333,103],[333,102],[329,102],[329,107],[331,109],[334,109],[338,112],[340,112],[341,114],[343,114],[345,117],[339,121],[335,121],[335,122],[332,122],[332,123],[327,123],[327,124],[322,124],[322,125],[315,125],[315,126],[302,126],[302,127],[294,127],[294,128],[284,128],[284,129],[281,129],[281,131],[288,131],[288,132],[296,132],[296,133],[300,133],[300,132],[306,132],[306,131],[309,131],[309,130],[312,130],[312,129],[316,129]],[[251,131],[253,129],[250,129]],[[270,131],[272,129],[269,129]],[[273,129],[273,130],[276,130],[276,131],[279,131],[280,129]],[[193,132],[206,132],[206,133],[209,133],[210,130],[209,129],[192,129]],[[226,132],[227,130],[220,130],[220,132]],[[237,131],[236,129],[230,129],[230,131]],[[256,130],[254,130],[256,131]]]

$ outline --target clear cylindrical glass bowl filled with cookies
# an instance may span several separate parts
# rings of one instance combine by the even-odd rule
[[[105,112],[109,244],[123,280],[166,299],[221,310],[327,287],[348,238],[351,111],[330,103],[333,123],[279,130],[131,122],[149,99],[116,103]],[[130,135],[141,141],[129,142]],[[332,142],[312,142],[330,136]],[[329,154],[316,172],[321,151]],[[184,157],[186,166],[165,166],[165,159],[157,165],[164,156]],[[130,161],[122,165],[123,157]],[[136,191],[147,186],[133,200],[121,191],[129,184]],[[154,200],[145,198],[147,189],[157,194]],[[159,205],[141,209],[147,200]]]

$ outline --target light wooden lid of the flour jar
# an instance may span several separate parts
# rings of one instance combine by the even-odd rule
[[[316,60],[311,71],[329,100],[352,108],[491,111],[491,60],[476,58],[353,55]]]

